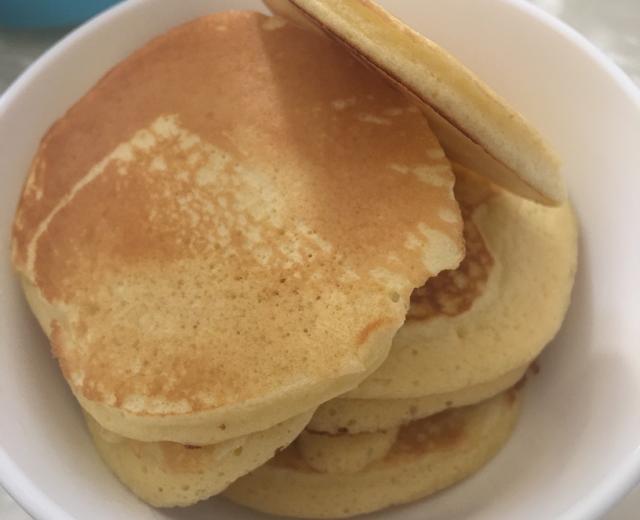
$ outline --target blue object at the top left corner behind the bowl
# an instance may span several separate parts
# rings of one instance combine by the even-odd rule
[[[0,0],[0,26],[44,28],[77,25],[119,0]]]

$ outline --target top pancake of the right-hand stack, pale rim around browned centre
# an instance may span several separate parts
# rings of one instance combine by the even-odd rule
[[[382,366],[350,399],[413,399],[483,385],[531,363],[558,331],[576,270],[568,204],[541,206],[456,168],[467,256],[414,291]]]

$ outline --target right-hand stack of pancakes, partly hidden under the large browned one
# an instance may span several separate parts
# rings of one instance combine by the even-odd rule
[[[466,256],[411,298],[382,366],[227,491],[273,514],[340,518],[416,500],[470,475],[508,440],[519,388],[569,304],[576,226],[462,167]]]

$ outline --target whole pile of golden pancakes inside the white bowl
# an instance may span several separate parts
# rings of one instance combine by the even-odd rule
[[[350,516],[504,444],[575,222],[542,139],[442,50],[370,2],[269,5],[157,37],[64,114],[13,261],[136,495]]]

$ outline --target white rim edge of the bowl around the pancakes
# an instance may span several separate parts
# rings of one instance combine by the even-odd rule
[[[603,51],[575,29],[526,0],[497,1],[541,22],[542,25],[560,35],[568,44],[577,47],[579,51],[591,59],[594,66],[606,73],[620,88],[622,95],[640,108],[640,88]],[[124,15],[125,12],[150,2],[151,0],[130,0],[115,4],[71,31],[44,52],[0,96],[0,123],[7,108],[47,62],[66,52],[68,47],[97,28],[108,25],[113,19]],[[597,519],[638,484],[640,484],[640,446],[636,447],[623,463],[611,468],[608,477],[599,482],[588,495],[583,496],[564,511],[558,519]],[[33,483],[2,445],[0,445],[0,485],[33,518],[38,520],[75,520],[55,500]]]

